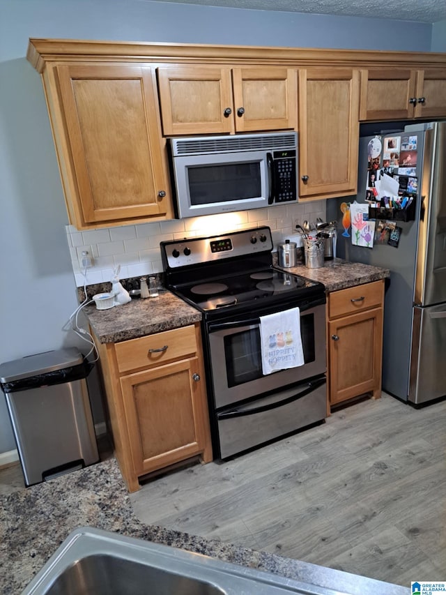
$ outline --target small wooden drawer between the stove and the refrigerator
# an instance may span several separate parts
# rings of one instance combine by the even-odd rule
[[[330,319],[361,312],[368,308],[383,305],[383,281],[355,285],[348,289],[340,289],[328,295],[328,317]]]

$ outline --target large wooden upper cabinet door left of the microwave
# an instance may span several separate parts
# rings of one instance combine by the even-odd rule
[[[56,66],[56,75],[61,111],[54,98],[50,107],[72,223],[170,212],[154,70],[84,64]]]

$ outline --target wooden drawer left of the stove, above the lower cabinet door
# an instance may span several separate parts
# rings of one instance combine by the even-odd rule
[[[116,343],[115,352],[119,372],[148,368],[184,358],[197,352],[195,327],[183,326],[180,329]]]

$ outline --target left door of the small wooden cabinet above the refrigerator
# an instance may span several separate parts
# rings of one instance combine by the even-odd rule
[[[360,120],[412,118],[416,76],[409,69],[362,70]]]

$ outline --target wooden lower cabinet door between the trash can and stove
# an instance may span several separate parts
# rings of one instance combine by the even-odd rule
[[[195,357],[121,377],[135,474],[203,451],[207,407],[199,371]]]

